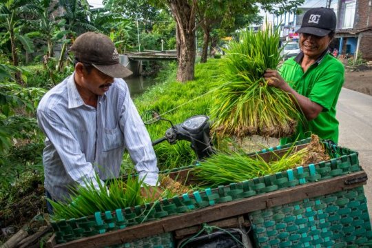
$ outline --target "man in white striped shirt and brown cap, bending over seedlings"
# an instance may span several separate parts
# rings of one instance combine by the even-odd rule
[[[144,183],[158,180],[149,134],[122,78],[130,76],[118,61],[114,43],[103,34],[81,34],[71,47],[75,71],[39,103],[37,120],[45,138],[45,190],[65,200],[70,187],[119,175],[124,149]],[[157,189],[150,187],[151,191]],[[145,191],[143,191],[145,194]]]

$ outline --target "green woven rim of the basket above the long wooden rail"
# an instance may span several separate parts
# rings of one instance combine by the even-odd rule
[[[309,141],[310,139],[298,141],[296,145],[309,143]],[[192,194],[174,196],[171,199],[165,198],[158,203],[116,209],[115,211],[105,211],[103,213],[96,212],[93,216],[86,216],[79,219],[52,221],[56,243],[78,240],[83,237],[123,229],[132,225],[138,225],[175,214],[182,214],[218,203],[226,203],[303,183],[311,183],[360,171],[358,153],[347,148],[329,147],[328,143],[325,143],[325,145],[329,153],[333,152],[333,154],[337,155],[329,161],[323,161],[315,165],[311,164],[307,167],[289,169],[286,172],[245,180],[241,183],[221,185],[214,189],[205,189],[200,192],[193,192]],[[291,145],[271,147],[267,150],[275,151],[289,146]],[[267,150],[256,152],[256,154],[267,152]],[[181,169],[183,168],[178,170]],[[175,171],[177,170],[173,170],[172,172]],[[167,171],[167,173],[169,172]]]

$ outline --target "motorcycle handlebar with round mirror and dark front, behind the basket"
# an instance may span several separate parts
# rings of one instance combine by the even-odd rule
[[[152,142],[152,145],[157,145],[163,141],[168,141],[174,145],[177,141],[189,141],[194,150],[198,161],[203,161],[205,158],[214,154],[214,149],[211,145],[210,123],[209,117],[205,115],[196,115],[187,118],[183,123],[173,125],[172,121],[161,117],[155,110],[147,110],[141,115],[143,123],[146,125],[157,121],[167,121],[171,127],[165,132],[165,136],[158,138]]]

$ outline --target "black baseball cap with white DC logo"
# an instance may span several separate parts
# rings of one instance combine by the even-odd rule
[[[332,9],[313,8],[304,14],[301,28],[297,32],[324,37],[330,32],[335,32],[336,23],[335,12]]]

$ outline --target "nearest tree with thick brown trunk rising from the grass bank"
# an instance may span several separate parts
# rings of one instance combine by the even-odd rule
[[[195,30],[196,13],[201,25],[205,26],[205,32],[210,32],[212,23],[217,22],[218,14],[225,13],[225,20],[234,23],[234,17],[238,13],[257,11],[257,3],[269,9],[273,4],[279,4],[280,8],[291,9],[304,0],[148,0],[154,6],[169,8],[176,21],[176,40],[178,54],[177,80],[185,82],[194,79],[194,63],[196,56]],[[289,2],[287,4],[287,2]],[[204,21],[204,24],[203,24]],[[203,27],[202,27],[203,28]]]

